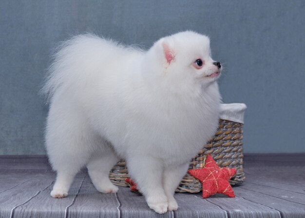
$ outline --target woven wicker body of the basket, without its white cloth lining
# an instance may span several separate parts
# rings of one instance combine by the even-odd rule
[[[243,124],[220,119],[218,130],[199,153],[191,159],[189,169],[204,167],[205,158],[211,155],[220,167],[237,169],[230,179],[231,185],[240,184],[245,180],[243,171]],[[119,161],[110,171],[109,178],[116,185],[129,186],[125,178],[129,178],[124,160]],[[202,191],[202,184],[188,173],[181,180],[176,192],[197,193]]]

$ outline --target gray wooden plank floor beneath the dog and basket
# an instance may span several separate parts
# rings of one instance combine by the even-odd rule
[[[98,193],[85,170],[67,198],[51,198],[56,174],[44,156],[0,156],[0,218],[305,218],[305,154],[245,155],[244,170],[236,198],[176,194],[179,209],[158,215],[129,188]]]

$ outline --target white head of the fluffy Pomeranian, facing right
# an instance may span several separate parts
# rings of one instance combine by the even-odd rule
[[[161,76],[177,86],[209,85],[220,76],[221,64],[211,58],[209,37],[192,31],[158,40],[149,53],[155,55]]]

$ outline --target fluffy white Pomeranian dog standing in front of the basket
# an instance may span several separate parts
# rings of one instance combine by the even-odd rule
[[[191,31],[148,51],[91,34],[64,42],[42,90],[51,196],[66,197],[83,166],[99,192],[116,193],[109,171],[122,158],[151,209],[177,210],[189,161],[218,126],[220,70],[209,38]]]

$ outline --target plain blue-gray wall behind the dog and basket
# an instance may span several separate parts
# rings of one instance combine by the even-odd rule
[[[149,48],[169,34],[211,38],[225,102],[244,102],[247,153],[305,152],[304,0],[0,1],[0,155],[45,154],[38,95],[52,49],[95,32]]]

